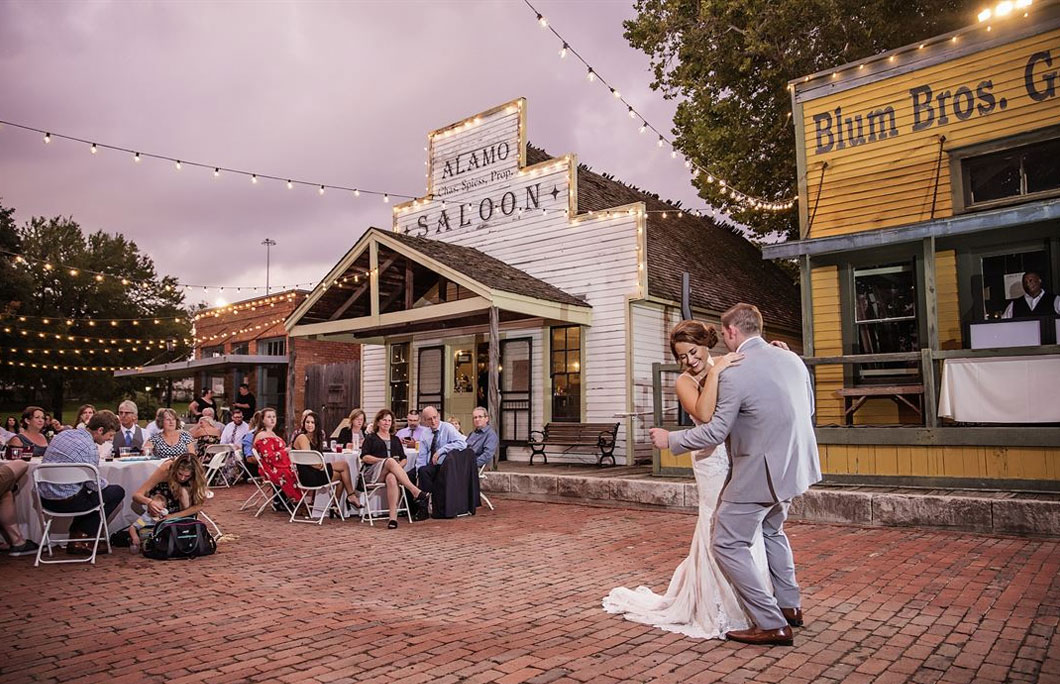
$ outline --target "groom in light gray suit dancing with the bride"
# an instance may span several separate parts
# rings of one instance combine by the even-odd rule
[[[722,337],[744,361],[721,374],[711,421],[675,433],[653,427],[652,441],[683,454],[730,438],[732,467],[718,506],[713,551],[755,627],[725,636],[791,646],[791,628],[801,627],[802,610],[783,523],[792,498],[820,480],[810,373],[796,354],[762,339],[757,306],[740,303],[722,314]],[[750,544],[759,529],[772,593],[752,560]]]

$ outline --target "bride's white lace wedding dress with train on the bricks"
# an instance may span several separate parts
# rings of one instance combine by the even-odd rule
[[[608,613],[693,638],[724,638],[725,632],[747,629],[752,621],[736,591],[718,567],[710,548],[714,509],[728,476],[728,453],[724,444],[692,454],[692,471],[700,493],[700,518],[692,534],[688,558],[681,562],[661,596],[647,586],[613,589],[603,599]],[[761,532],[752,545],[755,566],[768,586],[770,571]]]

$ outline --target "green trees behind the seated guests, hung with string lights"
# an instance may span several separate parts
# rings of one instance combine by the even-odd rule
[[[157,274],[154,261],[136,243],[102,230],[86,235],[72,218],[61,216],[36,216],[13,228],[13,215],[12,209],[0,207],[0,249],[6,252],[0,259],[5,276],[0,345],[5,359],[25,365],[0,366],[5,388],[22,389],[25,401],[35,401],[45,390],[46,402],[58,414],[67,391],[113,398],[143,389],[142,382],[117,380],[106,371],[43,370],[34,363],[137,366],[160,356],[167,361],[187,355],[191,322],[183,294],[175,278]],[[24,261],[16,261],[12,252]],[[17,276],[10,286],[8,273]],[[138,318],[149,320],[131,320]],[[145,340],[153,340],[152,349],[144,348]]]

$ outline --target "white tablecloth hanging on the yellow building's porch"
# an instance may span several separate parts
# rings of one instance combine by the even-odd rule
[[[1058,423],[1060,355],[947,358],[938,415],[967,423]]]

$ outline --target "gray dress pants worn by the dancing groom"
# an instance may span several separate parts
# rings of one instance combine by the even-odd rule
[[[783,531],[790,501],[776,504],[721,502],[714,525],[714,558],[743,600],[759,629],[788,626],[781,608],[798,608],[795,560]],[[773,592],[756,571],[750,555],[755,532],[762,529]]]

